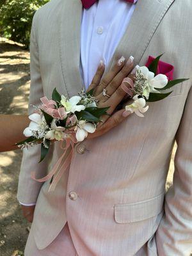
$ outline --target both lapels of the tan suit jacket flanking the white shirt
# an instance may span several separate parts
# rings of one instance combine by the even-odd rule
[[[154,32],[174,0],[140,0],[120,40],[108,69],[120,56],[134,56],[139,63]],[[69,97],[83,87],[79,72],[81,38],[81,0],[63,1],[60,24],[60,61],[63,80]],[[166,28],[164,28],[166,33]],[[162,52],[159,52],[161,54]],[[106,70],[107,71],[107,70]]]

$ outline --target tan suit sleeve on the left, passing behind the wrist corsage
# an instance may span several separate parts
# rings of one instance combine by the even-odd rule
[[[38,58],[38,44],[36,42],[36,13],[33,17],[31,28],[30,57],[31,86],[29,95],[29,115],[34,111],[31,105],[39,106],[40,97],[44,96]],[[35,171],[36,177],[44,177],[47,173],[48,165],[46,159],[44,159],[42,163],[38,163],[39,159],[40,145],[23,150],[17,193],[17,199],[19,202],[22,202],[22,204],[36,203],[42,183],[31,179],[31,172]]]

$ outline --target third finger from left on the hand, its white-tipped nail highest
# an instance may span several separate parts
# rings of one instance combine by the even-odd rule
[[[106,87],[106,93],[109,96],[116,91],[116,89],[120,86],[124,78],[129,75],[129,73],[133,68],[133,60],[134,60],[134,57],[130,56],[126,64],[124,65],[124,68],[122,68],[122,70],[118,72],[118,74],[114,77],[111,83],[109,83],[109,85]],[[102,100],[102,98],[104,99],[104,101],[110,99],[109,97],[103,97],[101,93],[101,97],[99,97],[99,100]]]

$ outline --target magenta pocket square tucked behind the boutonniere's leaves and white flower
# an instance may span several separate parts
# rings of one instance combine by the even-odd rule
[[[150,65],[150,63],[152,63],[152,61],[154,61],[154,60],[155,60],[154,57],[148,56],[148,60],[147,60],[147,63],[145,64],[145,66],[148,67]],[[173,72],[174,72],[173,65],[159,60],[159,64],[157,67],[157,74],[164,74],[168,77],[168,80],[173,80]]]

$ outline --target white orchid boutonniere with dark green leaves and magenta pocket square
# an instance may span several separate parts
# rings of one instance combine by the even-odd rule
[[[185,78],[173,80],[174,67],[160,61],[162,55],[157,58],[149,56],[146,65],[137,68],[134,83],[130,83],[127,78],[124,79],[124,83],[130,84],[129,97],[133,100],[132,104],[125,106],[126,111],[143,117],[143,113],[148,110],[147,102],[163,100],[173,92],[166,90],[188,80]]]

